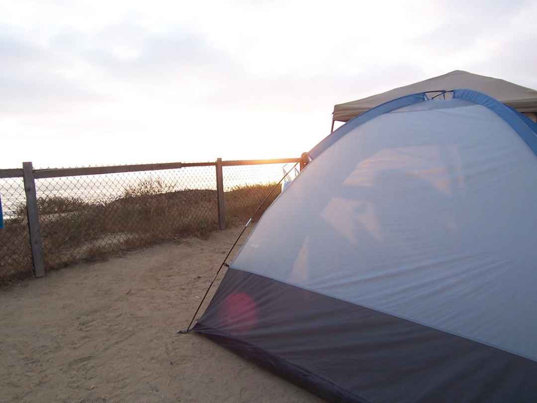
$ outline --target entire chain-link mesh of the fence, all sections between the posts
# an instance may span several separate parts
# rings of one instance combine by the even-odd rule
[[[284,167],[293,165],[244,163],[248,161],[223,162],[220,196],[216,163],[176,169],[155,164],[155,169],[143,171],[134,165],[128,171],[91,175],[91,169],[98,168],[34,170],[45,268],[100,260],[184,236],[206,236],[222,225],[219,197],[224,200],[222,221],[227,226],[243,224],[284,175]],[[277,188],[264,208],[279,193]],[[32,254],[23,178],[0,178],[0,195],[5,214],[5,228],[0,229],[2,282],[17,273],[30,274]]]

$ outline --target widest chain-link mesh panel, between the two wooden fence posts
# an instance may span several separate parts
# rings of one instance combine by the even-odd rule
[[[35,182],[46,268],[218,228],[214,167]]]

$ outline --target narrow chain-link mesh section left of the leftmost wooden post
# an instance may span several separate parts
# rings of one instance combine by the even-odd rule
[[[4,228],[0,229],[0,285],[30,276],[32,254],[23,178],[0,178]]]

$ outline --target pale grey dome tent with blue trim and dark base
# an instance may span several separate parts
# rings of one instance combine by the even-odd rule
[[[472,90],[362,113],[311,150],[195,332],[331,401],[537,401],[536,154]]]

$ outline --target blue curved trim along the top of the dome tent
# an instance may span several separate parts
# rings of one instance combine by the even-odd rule
[[[431,92],[431,91],[428,91]],[[446,91],[435,91],[446,92]],[[502,118],[509,126],[513,128],[515,132],[525,141],[529,148],[537,156],[537,124],[532,120],[524,116],[524,114],[512,109],[511,107],[502,104],[497,99],[494,99],[482,92],[474,91],[470,89],[456,89],[453,91],[453,98],[466,99],[477,105],[483,105],[488,107],[492,112],[495,112],[500,118]],[[339,127],[335,132],[326,136],[320,143],[308,153],[312,160],[315,160],[324,150],[329,148],[333,143],[342,138],[345,134],[349,133],[355,127],[363,125],[364,123],[372,120],[384,113],[400,109],[404,106],[416,104],[418,102],[424,102],[429,100],[426,95],[427,92],[418,92],[415,94],[407,95],[401,98],[390,100],[379,106],[364,112],[357,117],[349,120],[346,124]]]

